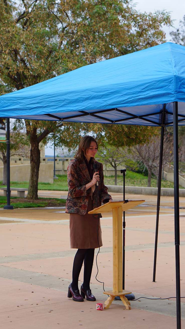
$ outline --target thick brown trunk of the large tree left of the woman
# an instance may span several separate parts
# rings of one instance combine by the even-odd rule
[[[39,181],[39,167],[40,167],[40,149],[36,132],[30,134],[30,181],[28,187],[28,199],[38,199],[38,181]]]

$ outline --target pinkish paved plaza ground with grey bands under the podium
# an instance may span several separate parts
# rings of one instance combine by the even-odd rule
[[[111,193],[113,200],[122,194]],[[12,195],[14,195],[12,193]],[[65,191],[39,191],[40,197],[66,198]],[[156,282],[153,278],[157,196],[126,195],[145,203],[126,212],[125,289],[136,298],[166,298],[175,292],[173,197],[161,197]],[[114,301],[110,309],[96,311],[96,302],[78,303],[67,298],[72,262],[69,215],[65,208],[0,210],[0,285],[2,329],[56,328],[176,328],[175,298],[131,301],[131,310]],[[98,280],[112,289],[112,218],[101,218],[103,247],[97,257]],[[96,249],[97,253],[98,249]],[[180,198],[181,296],[185,296],[185,198]],[[97,302],[107,298],[96,281],[94,259],[91,289]],[[83,281],[83,268],[79,277]],[[185,328],[185,298],[181,299]]]

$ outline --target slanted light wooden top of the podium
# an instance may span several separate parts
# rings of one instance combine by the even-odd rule
[[[126,211],[128,209],[136,207],[137,205],[143,202],[145,202],[145,200],[126,200],[126,202],[125,201],[107,202],[104,205],[89,211],[88,214],[108,213],[118,207],[122,207],[122,211]]]

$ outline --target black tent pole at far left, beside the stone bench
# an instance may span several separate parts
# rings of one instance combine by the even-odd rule
[[[4,209],[13,209],[10,205],[10,118],[6,119],[7,124],[7,205]]]

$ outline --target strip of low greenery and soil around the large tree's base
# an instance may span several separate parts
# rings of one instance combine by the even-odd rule
[[[0,208],[7,204],[6,196],[0,196]],[[10,198],[10,204],[13,208],[43,208],[43,207],[60,207],[66,205],[65,199],[39,198],[38,200],[29,200],[13,196]]]

